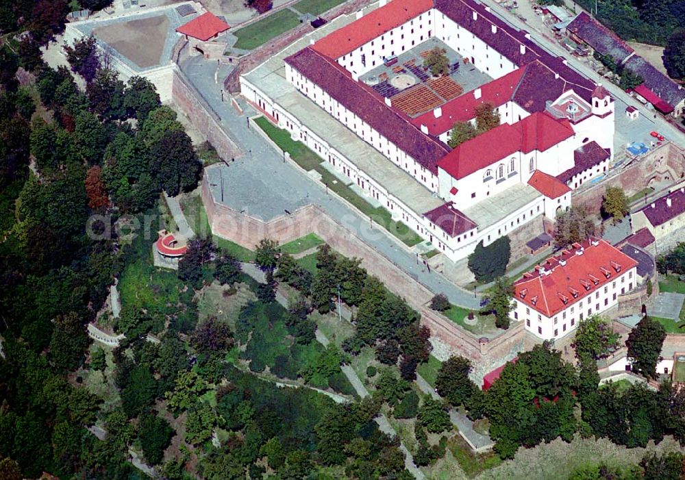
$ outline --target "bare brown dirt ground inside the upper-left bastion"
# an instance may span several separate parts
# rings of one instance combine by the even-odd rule
[[[160,63],[169,18],[166,15],[141,18],[95,29],[93,34],[140,68]]]

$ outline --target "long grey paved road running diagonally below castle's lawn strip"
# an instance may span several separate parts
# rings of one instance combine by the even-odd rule
[[[408,251],[403,244],[398,244],[399,240],[379,231],[377,227],[370,228],[368,217],[360,215],[357,210],[351,209],[338,197],[327,195],[320,183],[312,181],[298,168],[284,162],[282,155],[275,151],[260,134],[253,131],[255,126],[248,127],[247,116],[255,114],[254,110],[247,107],[245,114],[240,115],[231,106],[229,99],[225,99],[225,102],[221,101],[221,84],[214,83],[216,62],[192,57],[184,60],[181,67],[195,88],[219,115],[222,126],[231,132],[232,138],[246,152],[244,157],[236,159],[236,162],[227,167],[228,175],[232,175],[234,171],[238,173],[238,169],[232,170],[234,164],[245,162],[253,177],[278,179],[279,188],[297,191],[301,197],[308,195],[311,203],[321,206],[333,218],[345,218],[345,225],[353,233],[373,245],[379,254],[387,257],[432,292],[444,292],[452,303],[464,308],[470,310],[479,308],[480,299],[474,298],[473,292],[462,290],[434,270],[428,272],[423,264],[417,264],[416,253]],[[230,68],[222,66],[219,78],[224,78]],[[255,207],[250,208],[250,214],[259,216],[258,213]]]

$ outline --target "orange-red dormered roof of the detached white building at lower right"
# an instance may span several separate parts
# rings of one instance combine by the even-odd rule
[[[606,240],[591,238],[525,273],[514,283],[514,298],[552,317],[637,264]]]

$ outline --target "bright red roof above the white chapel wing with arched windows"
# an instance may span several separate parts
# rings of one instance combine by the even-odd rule
[[[503,123],[458,145],[438,166],[461,179],[516,152],[545,151],[573,134],[568,121],[536,112],[514,125]]]

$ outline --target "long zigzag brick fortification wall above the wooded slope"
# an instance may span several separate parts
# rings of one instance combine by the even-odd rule
[[[497,338],[481,342],[442,314],[430,310],[427,303],[432,299],[432,292],[331,218],[321,207],[306,205],[290,215],[264,222],[217,203],[210,192],[207,175],[202,180],[201,194],[212,233],[242,247],[253,249],[263,238],[286,243],[313,232],[341,255],[358,257],[369,273],[382,278],[388,289],[402,296],[421,313],[421,323],[431,330],[434,355],[438,359],[445,360],[450,355],[464,355],[471,359],[474,364],[472,377],[477,383],[487,372],[532,345],[527,342],[523,323],[515,323]]]

